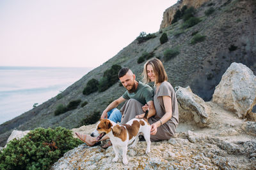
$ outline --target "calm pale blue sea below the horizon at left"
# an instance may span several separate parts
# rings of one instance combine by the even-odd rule
[[[92,69],[0,66],[0,124],[51,99]]]

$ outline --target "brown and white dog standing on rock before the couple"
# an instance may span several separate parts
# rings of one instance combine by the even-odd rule
[[[143,134],[147,141],[146,153],[150,152],[150,125],[148,124],[148,110],[143,118],[132,118],[127,124],[119,125],[112,122],[109,119],[100,119],[97,124],[96,130],[93,132],[93,136],[100,140],[104,135],[109,136],[115,152],[115,158],[112,162],[117,162],[119,150],[122,149],[123,153],[123,164],[127,165],[127,147],[129,144],[133,148],[138,142],[138,136]]]

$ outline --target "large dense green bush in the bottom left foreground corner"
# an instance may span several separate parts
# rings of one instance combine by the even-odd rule
[[[54,162],[82,142],[63,127],[38,128],[13,139],[0,153],[0,169],[50,169]]]

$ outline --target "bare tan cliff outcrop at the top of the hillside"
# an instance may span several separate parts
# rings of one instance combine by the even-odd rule
[[[171,6],[170,8],[168,8],[167,10],[164,11],[163,20],[161,22],[160,29],[163,29],[163,28],[171,25],[173,16],[175,15],[175,12],[177,10],[180,10],[184,5],[188,6],[188,8],[191,6],[193,6],[194,8],[198,8],[198,7],[202,6],[202,4],[204,4],[208,1],[210,1],[210,0],[196,0],[196,1],[180,0],[180,1],[178,1],[177,4]]]

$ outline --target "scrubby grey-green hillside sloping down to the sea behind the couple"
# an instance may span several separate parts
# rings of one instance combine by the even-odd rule
[[[166,12],[175,13],[184,6],[186,1],[179,1],[164,12],[163,20],[166,20]],[[195,3],[198,5],[198,3]],[[200,3],[199,3],[200,4]],[[193,4],[188,4],[193,5]],[[60,95],[53,97],[45,103],[29,110],[19,117],[13,118],[0,125],[0,145],[3,146],[13,129],[22,131],[35,127],[67,127],[72,129],[83,125],[83,119],[93,113],[100,114],[108,104],[121,96],[125,89],[120,83],[115,83],[104,92],[94,92],[88,96],[83,95],[86,83],[95,78],[100,80],[104,71],[114,64],[122,67],[130,67],[140,80],[143,63],[137,60],[145,52],[154,52],[154,57],[163,60],[164,67],[173,87],[191,87],[193,92],[210,101],[216,85],[221,76],[232,62],[240,62],[249,67],[256,74],[256,3],[253,0],[238,1],[206,1],[195,6],[195,17],[200,22],[193,27],[184,27],[184,20],[180,19],[174,24],[161,25],[161,29],[155,32],[155,38],[148,39],[144,43],[138,40],[126,46],[114,57],[101,66],[93,69]],[[205,15],[205,11],[212,8],[211,15]],[[171,10],[171,11],[170,11]],[[170,15],[168,16],[170,17]],[[168,19],[169,22],[172,20]],[[162,22],[163,23],[163,22]],[[161,44],[159,38],[166,32],[168,41]],[[195,34],[205,36],[204,41],[191,44]],[[122,37],[121,37],[122,38]],[[164,51],[175,48],[179,54],[170,60],[164,60]],[[86,106],[79,106],[76,110],[67,111],[64,114],[54,116],[54,111],[59,104],[67,105],[70,101],[81,99],[87,101]]]

